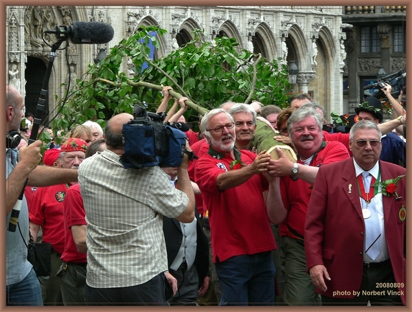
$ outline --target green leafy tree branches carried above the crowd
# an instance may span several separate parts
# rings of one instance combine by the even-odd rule
[[[157,35],[150,35],[152,32]],[[176,91],[174,96],[186,96],[194,103],[185,113],[187,120],[229,100],[287,106],[288,72],[277,60],[268,62],[260,54],[240,49],[234,38],[216,38],[216,45],[211,45],[201,39],[200,30],[183,47],[150,60],[150,40],[159,50],[165,32],[155,26],[144,27],[111,48],[100,63],[89,65],[52,128],[69,129],[86,120],[104,126],[117,113],[132,113],[134,104],[146,103],[148,111],[155,112],[163,98],[162,86],[166,85]],[[133,79],[122,72],[127,59],[137,73]],[[143,69],[145,64],[149,67]]]

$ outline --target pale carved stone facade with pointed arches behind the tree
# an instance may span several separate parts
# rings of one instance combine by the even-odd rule
[[[30,75],[34,74],[30,66],[34,58],[41,59],[44,68],[50,64],[49,45],[53,45],[56,38],[45,34],[47,44],[44,43],[43,31],[53,30],[56,25],[70,25],[71,21],[110,23],[115,30],[110,43],[69,45],[67,50],[56,52],[48,86],[48,107],[53,111],[54,96],[64,96],[65,88],[60,85],[67,81],[69,71],[79,78],[100,49],[108,52],[139,27],[158,25],[168,33],[160,39],[157,58],[190,41],[195,29],[204,30],[206,41],[213,41],[216,36],[234,37],[240,47],[261,53],[269,60],[279,59],[285,64],[295,60],[299,67],[295,91],[312,93],[314,99],[325,106],[328,115],[331,111],[343,113],[347,111],[342,99],[345,57],[340,46],[346,39],[345,28],[352,25],[342,23],[342,16],[341,6],[8,6],[6,81],[12,78],[8,73],[13,65],[19,71],[16,78],[26,82],[31,81]],[[63,47],[65,43],[60,48]],[[26,67],[31,70],[25,70]],[[133,74],[128,70],[127,60],[123,70]],[[19,87],[23,94],[30,89],[27,83]],[[26,107],[29,105],[32,102],[26,100]]]

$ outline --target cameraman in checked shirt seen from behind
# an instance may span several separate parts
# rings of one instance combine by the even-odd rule
[[[87,214],[87,304],[168,305],[168,259],[162,215],[194,219],[194,193],[185,154],[170,188],[159,166],[125,169],[122,129],[133,115],[120,113],[104,129],[107,149],[83,161],[79,183]],[[187,151],[190,146],[186,144]],[[83,164],[82,163],[82,164]]]

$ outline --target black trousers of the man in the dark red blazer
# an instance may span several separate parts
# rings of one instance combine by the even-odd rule
[[[406,281],[405,281],[406,282]],[[395,278],[391,267],[391,260],[382,263],[371,263],[363,266],[363,278],[358,296],[349,298],[334,298],[322,296],[323,306],[365,306],[368,301],[371,306],[397,306],[402,305],[397,287],[383,287],[393,285]],[[382,287],[381,287],[382,286]],[[357,291],[354,289],[354,291]]]

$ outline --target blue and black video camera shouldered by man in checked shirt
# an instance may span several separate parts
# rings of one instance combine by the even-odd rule
[[[124,168],[181,166],[183,155],[190,154],[185,148],[187,137],[179,129],[182,124],[165,124],[165,113],[150,113],[139,105],[133,108],[133,118],[122,129]]]

